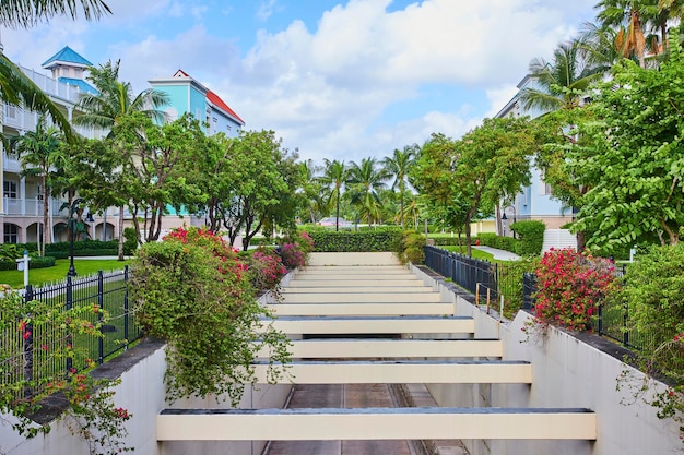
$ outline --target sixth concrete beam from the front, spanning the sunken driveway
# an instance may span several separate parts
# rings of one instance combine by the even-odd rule
[[[386,292],[386,294],[366,294],[358,292],[351,288],[349,292],[287,292],[283,294],[283,303],[420,303],[420,302],[439,302],[441,296],[439,292],[433,292],[426,289],[422,294],[404,294],[404,292]]]

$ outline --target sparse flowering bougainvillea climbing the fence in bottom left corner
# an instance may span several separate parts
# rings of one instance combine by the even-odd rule
[[[0,414],[16,417],[12,427],[25,438],[46,433],[50,424],[38,426],[32,417],[49,395],[51,409],[63,409],[59,419],[87,443],[91,455],[113,455],[132,450],[125,444],[131,415],[115,406],[111,387],[117,381],[91,376],[87,370],[96,363],[72,343],[74,337],[102,337],[101,323],[90,321],[93,313],[107,319],[96,303],[64,309],[52,299],[25,302],[16,290],[0,285]],[[73,366],[68,371],[55,368],[68,359]],[[11,447],[0,441],[0,453],[5,450]]]

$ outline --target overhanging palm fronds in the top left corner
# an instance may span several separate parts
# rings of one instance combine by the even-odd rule
[[[110,13],[102,0],[14,0],[0,2],[0,26],[27,28],[56,15],[76,19],[79,8],[86,20],[96,20]],[[50,98],[19,69],[0,49],[0,100],[40,113],[49,113],[68,140],[74,135],[69,120]]]

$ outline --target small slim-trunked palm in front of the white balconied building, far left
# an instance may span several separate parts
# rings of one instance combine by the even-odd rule
[[[45,255],[45,244],[52,241],[52,228],[49,223],[49,176],[55,167],[60,167],[66,160],[61,153],[61,132],[55,127],[46,127],[45,117],[40,116],[35,131],[30,131],[23,136],[12,137],[10,147],[22,159],[24,175],[40,178],[43,189],[43,246],[40,255]]]

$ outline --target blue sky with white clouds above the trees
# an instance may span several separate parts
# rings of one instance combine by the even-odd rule
[[[135,92],[178,69],[250,130],[303,159],[361,160],[458,137],[516,93],[532,58],[594,17],[595,0],[109,0],[99,22],[2,29],[25,67],[70,46],[121,60]]]

